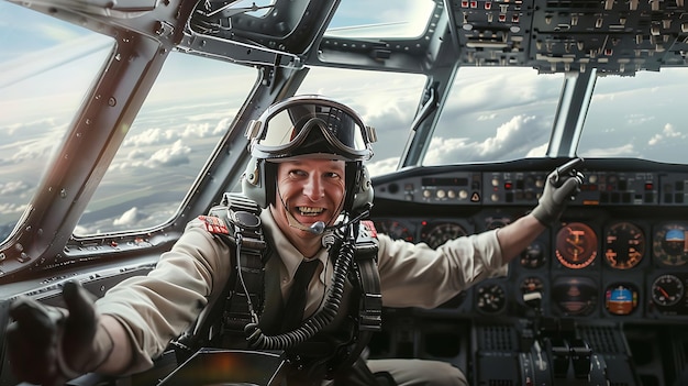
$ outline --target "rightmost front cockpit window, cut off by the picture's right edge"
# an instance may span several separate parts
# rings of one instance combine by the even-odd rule
[[[687,68],[598,78],[579,154],[688,163],[686,84]]]

